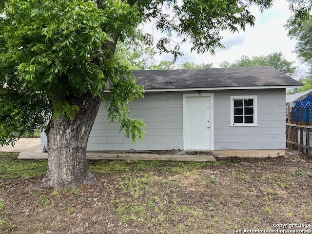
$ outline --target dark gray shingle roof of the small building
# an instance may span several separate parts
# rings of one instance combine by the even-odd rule
[[[137,84],[149,89],[200,89],[252,86],[300,86],[271,67],[133,71]]]

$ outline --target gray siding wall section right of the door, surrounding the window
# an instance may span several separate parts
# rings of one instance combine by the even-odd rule
[[[258,126],[230,126],[230,96],[257,95]],[[285,89],[215,92],[215,150],[285,149]]]

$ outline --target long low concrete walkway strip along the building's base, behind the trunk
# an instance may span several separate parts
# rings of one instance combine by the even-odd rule
[[[19,159],[47,159],[47,153],[20,152]],[[202,161],[215,162],[212,155],[156,155],[156,154],[113,154],[113,153],[87,153],[88,159],[95,160],[164,160],[164,161]]]

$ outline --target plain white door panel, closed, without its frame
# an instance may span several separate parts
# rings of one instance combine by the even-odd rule
[[[184,149],[211,150],[211,110],[209,96],[184,99]]]

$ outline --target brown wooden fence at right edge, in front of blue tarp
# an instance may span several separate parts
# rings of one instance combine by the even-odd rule
[[[309,107],[306,108],[305,121],[303,121],[304,112],[303,107],[286,108],[286,147],[298,149],[312,156],[312,123],[309,121]]]

